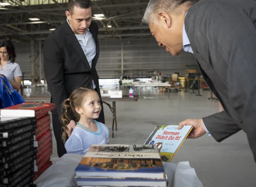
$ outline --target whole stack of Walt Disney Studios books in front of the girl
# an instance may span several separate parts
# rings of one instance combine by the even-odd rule
[[[156,145],[92,145],[75,176],[78,186],[167,186]]]

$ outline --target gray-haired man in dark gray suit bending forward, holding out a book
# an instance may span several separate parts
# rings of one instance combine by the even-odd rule
[[[256,2],[150,0],[143,17],[159,46],[193,53],[224,111],[180,123],[189,138],[211,134],[220,142],[243,130],[256,160]]]

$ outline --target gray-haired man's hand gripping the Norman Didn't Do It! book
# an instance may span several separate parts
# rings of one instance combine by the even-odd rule
[[[178,129],[181,129],[185,125],[192,125],[193,127],[187,138],[199,138],[206,133],[203,119],[186,119],[185,121],[180,122]]]

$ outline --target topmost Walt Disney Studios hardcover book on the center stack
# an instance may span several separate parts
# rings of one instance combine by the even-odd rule
[[[92,145],[75,172],[77,177],[165,179],[155,145]]]

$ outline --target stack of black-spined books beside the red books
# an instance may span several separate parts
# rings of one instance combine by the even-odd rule
[[[0,118],[2,185],[31,186],[34,178],[35,118]]]

